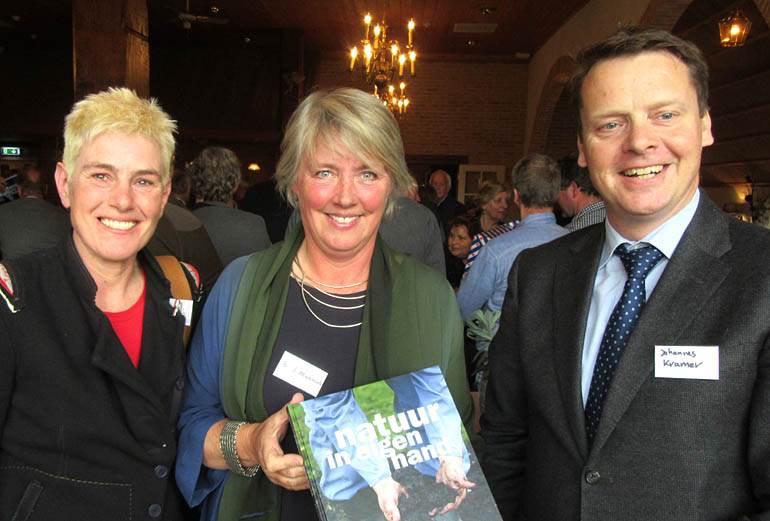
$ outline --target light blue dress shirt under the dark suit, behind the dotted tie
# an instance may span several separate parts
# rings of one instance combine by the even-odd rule
[[[591,294],[591,307],[589,308],[588,321],[586,322],[586,334],[583,339],[583,359],[581,365],[583,405],[585,405],[588,399],[588,390],[591,387],[594,365],[596,365],[596,358],[599,355],[599,347],[604,336],[604,329],[610,320],[612,310],[615,309],[615,305],[623,294],[623,286],[628,278],[620,257],[613,255],[615,249],[624,242],[627,242],[631,244],[631,249],[640,247],[643,244],[651,244],[663,253],[663,258],[650,271],[644,282],[647,300],[649,300],[661,275],[663,275],[663,271],[668,265],[669,259],[674,254],[677,245],[679,245],[684,231],[689,226],[690,221],[692,221],[695,210],[698,209],[698,201],[700,201],[700,191],[696,190],[695,195],[687,203],[687,206],[640,241],[626,239],[612,227],[609,219],[604,221],[604,248],[599,259],[599,268],[596,271],[594,289]]]

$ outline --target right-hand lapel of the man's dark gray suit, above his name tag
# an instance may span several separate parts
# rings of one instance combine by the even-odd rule
[[[730,271],[727,217],[701,193],[698,211],[642,310],[618,363],[592,451],[599,451],[651,377],[655,345],[677,345]]]

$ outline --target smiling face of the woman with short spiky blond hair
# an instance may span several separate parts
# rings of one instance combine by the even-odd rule
[[[133,263],[149,242],[171,189],[161,184],[161,161],[149,139],[108,132],[83,146],[74,172],[56,166],[56,187],[89,271]]]

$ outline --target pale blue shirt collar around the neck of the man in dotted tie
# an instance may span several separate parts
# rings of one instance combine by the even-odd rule
[[[599,259],[599,268],[601,269],[607,261],[612,257],[615,249],[624,242],[631,244],[631,249],[634,249],[640,243],[647,243],[655,246],[658,250],[665,255],[666,259],[670,259],[676,250],[679,241],[684,235],[684,231],[692,221],[695,211],[698,209],[698,202],[700,201],[700,190],[695,190],[695,194],[687,203],[687,206],[679,210],[673,217],[666,222],[655,228],[649,234],[642,238],[640,241],[632,241],[623,237],[615,228],[610,224],[609,219],[604,221],[604,248],[602,249],[602,256]]]

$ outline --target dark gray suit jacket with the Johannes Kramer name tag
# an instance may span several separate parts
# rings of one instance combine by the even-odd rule
[[[629,339],[594,445],[580,364],[604,225],[522,253],[490,347],[484,469],[506,520],[770,520],[770,233],[698,210]],[[718,345],[719,380],[654,376]]]

